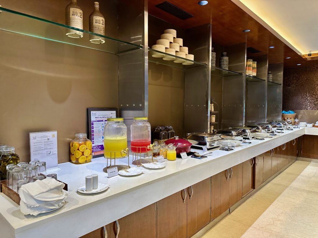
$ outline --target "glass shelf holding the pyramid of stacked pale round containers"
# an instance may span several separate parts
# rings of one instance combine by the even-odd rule
[[[161,51],[158,51],[158,50],[154,50],[154,49],[150,49],[149,48],[148,51],[149,51],[148,61],[153,62],[153,63],[168,65],[168,66],[179,68],[179,69],[187,69],[187,68],[193,68],[193,67],[207,66],[206,63],[200,63],[200,62],[197,62],[197,61],[188,60],[188,59],[185,59],[183,57],[170,55],[168,53],[164,53],[164,52],[161,52]],[[162,58],[153,57],[152,55],[154,54],[154,52],[162,53],[162,54],[165,54],[166,56],[172,56],[172,57],[175,57],[176,59],[186,60],[188,62],[190,61],[193,64],[184,65],[182,63],[175,63],[175,62],[173,62],[174,60],[163,60]]]

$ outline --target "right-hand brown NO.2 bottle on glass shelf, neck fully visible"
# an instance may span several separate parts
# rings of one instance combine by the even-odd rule
[[[89,15],[89,31],[99,35],[105,35],[105,17],[100,13],[98,2],[94,2],[94,10],[91,15]],[[103,37],[95,35],[90,35],[89,41],[95,44],[105,43]]]

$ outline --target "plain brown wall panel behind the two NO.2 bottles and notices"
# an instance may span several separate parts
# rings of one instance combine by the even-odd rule
[[[9,1],[2,6],[65,23],[70,1]],[[94,1],[79,0],[84,29]],[[106,34],[117,37],[117,2],[100,1]],[[118,56],[0,31],[0,143],[30,160],[29,132],[57,130],[59,163],[69,142],[87,131],[87,107],[118,107]]]

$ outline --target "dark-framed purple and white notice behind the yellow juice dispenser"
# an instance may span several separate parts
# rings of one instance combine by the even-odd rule
[[[104,156],[104,127],[107,118],[117,115],[117,108],[87,108],[88,138],[92,141],[93,158]]]

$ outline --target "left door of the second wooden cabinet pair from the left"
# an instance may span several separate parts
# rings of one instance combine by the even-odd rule
[[[157,205],[157,237],[187,237],[187,192],[186,189],[170,195]],[[184,202],[183,202],[184,201]],[[143,224],[141,224],[143,225]],[[128,236],[129,237],[129,236]],[[125,237],[123,237],[125,238]]]

